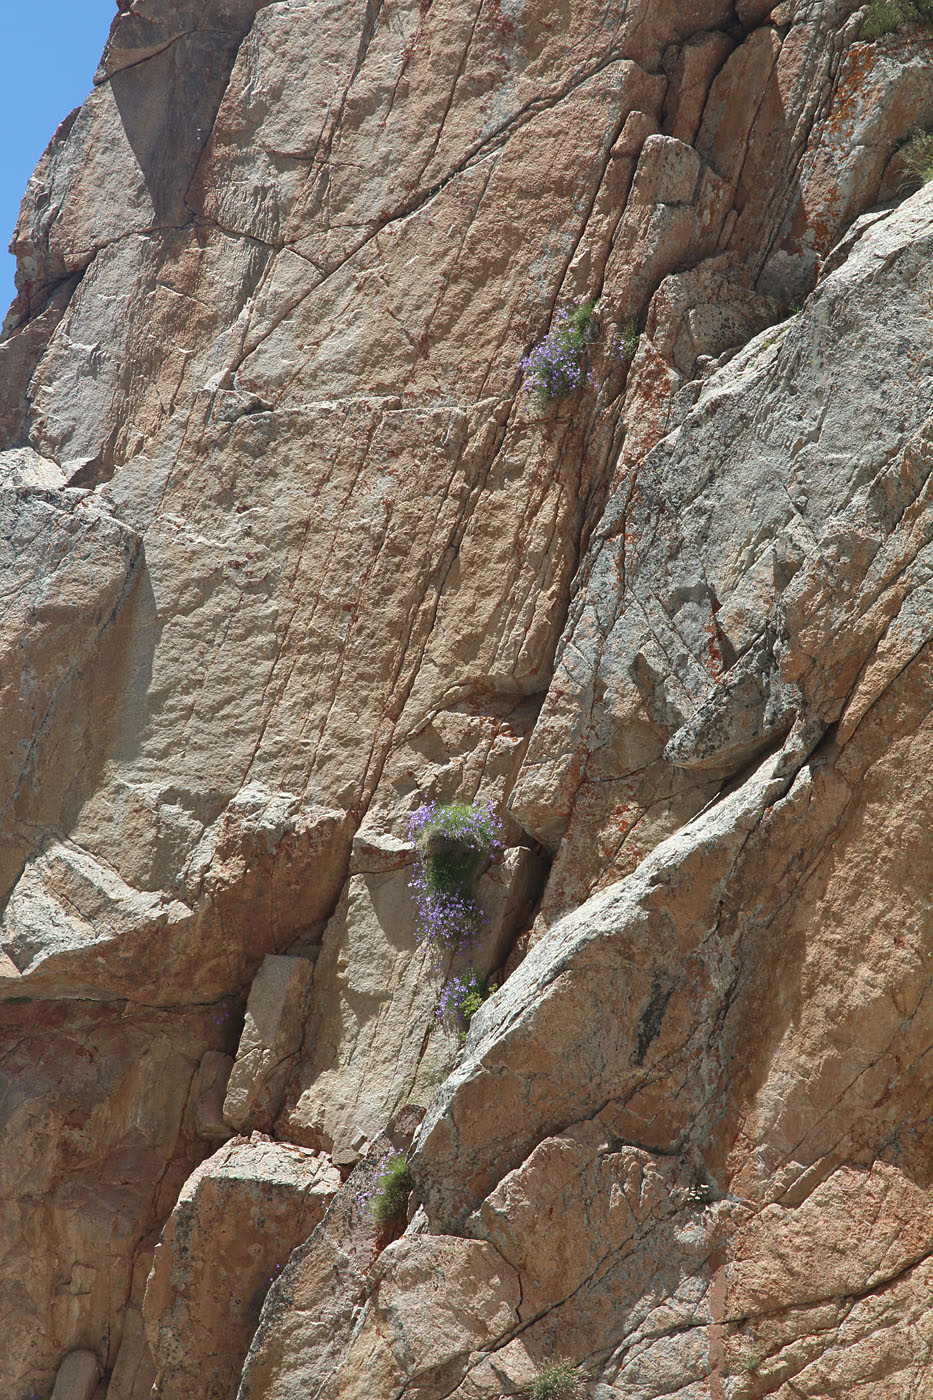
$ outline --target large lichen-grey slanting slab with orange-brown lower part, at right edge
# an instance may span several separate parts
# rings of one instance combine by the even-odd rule
[[[619,473],[510,799],[560,846],[539,927],[838,718],[926,538],[932,251],[927,186]]]

